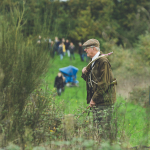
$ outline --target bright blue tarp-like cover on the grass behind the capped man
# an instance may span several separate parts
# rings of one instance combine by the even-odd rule
[[[78,83],[78,81],[76,80],[77,78],[76,74],[78,72],[78,68],[70,65],[68,67],[60,68],[59,71],[66,78],[66,83],[68,82]]]

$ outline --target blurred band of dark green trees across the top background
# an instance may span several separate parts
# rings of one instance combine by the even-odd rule
[[[139,35],[150,31],[149,0],[1,0],[0,14],[13,23],[12,11],[24,11],[22,33],[69,38],[74,43],[97,38],[117,39],[133,47]],[[16,18],[19,22],[19,17]]]

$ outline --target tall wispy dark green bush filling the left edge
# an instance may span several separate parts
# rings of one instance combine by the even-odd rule
[[[31,37],[25,38],[21,33],[26,23],[24,13],[24,4],[22,11],[18,6],[10,5],[10,14],[3,15],[0,30],[0,91],[3,94],[0,99],[0,121],[9,131],[5,136],[8,139],[15,134],[21,136],[22,143],[25,130],[23,110],[30,94],[40,84],[41,76],[46,73],[50,59],[42,45],[37,45]]]

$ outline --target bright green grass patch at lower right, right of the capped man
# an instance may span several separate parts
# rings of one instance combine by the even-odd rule
[[[150,145],[149,112],[145,108],[127,103],[123,98],[118,97],[116,112],[119,138],[128,141],[131,146]]]

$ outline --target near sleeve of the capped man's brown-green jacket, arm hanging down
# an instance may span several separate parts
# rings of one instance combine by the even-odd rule
[[[106,90],[108,89],[110,85],[110,69],[109,69],[109,64],[107,62],[104,62],[100,68],[99,68],[99,73],[101,71],[101,77],[98,79],[97,83],[97,89],[93,94],[92,100],[95,103],[99,103],[101,101],[101,98],[105,94]]]

